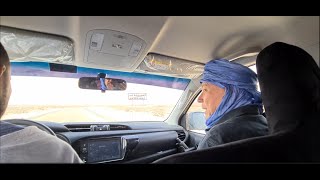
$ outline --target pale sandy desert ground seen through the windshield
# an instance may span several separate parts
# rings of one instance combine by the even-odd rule
[[[172,106],[9,106],[2,119],[54,122],[163,121]]]

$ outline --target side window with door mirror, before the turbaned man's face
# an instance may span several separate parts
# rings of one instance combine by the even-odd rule
[[[198,95],[198,97],[200,94]],[[204,115],[204,109],[201,107],[201,103],[198,103],[198,97],[194,100],[190,106],[186,115],[186,129],[197,133],[205,134],[206,119]]]

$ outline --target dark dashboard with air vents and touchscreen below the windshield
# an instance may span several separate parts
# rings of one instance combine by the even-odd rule
[[[181,126],[165,122],[42,123],[88,164],[151,163],[177,153],[177,138],[186,140]]]

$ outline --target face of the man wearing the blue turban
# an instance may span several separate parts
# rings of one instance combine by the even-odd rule
[[[208,119],[220,105],[225,94],[225,89],[210,83],[202,83],[202,92],[198,102],[202,103],[202,109],[205,109],[205,116]]]

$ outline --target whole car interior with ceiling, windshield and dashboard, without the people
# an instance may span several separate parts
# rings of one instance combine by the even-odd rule
[[[319,16],[0,16],[0,40],[1,121],[37,126],[84,163],[320,162]],[[196,150],[213,59],[257,72],[269,135]]]

